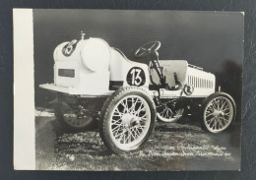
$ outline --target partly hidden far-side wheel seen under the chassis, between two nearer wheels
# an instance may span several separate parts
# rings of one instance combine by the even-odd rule
[[[171,110],[171,108],[167,106],[163,106],[157,113],[157,117],[160,121],[166,123],[174,123],[182,117],[184,109],[180,108],[177,110]]]

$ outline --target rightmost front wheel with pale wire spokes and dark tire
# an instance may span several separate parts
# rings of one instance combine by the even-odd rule
[[[211,133],[223,132],[235,118],[234,100],[224,92],[210,95],[203,107],[203,128]]]

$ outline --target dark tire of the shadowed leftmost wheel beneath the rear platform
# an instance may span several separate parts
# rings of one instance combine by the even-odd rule
[[[54,105],[54,114],[57,119],[57,121],[60,122],[62,127],[67,132],[84,132],[88,130],[95,129],[97,126],[97,121],[95,118],[90,119],[90,121],[86,124],[86,126],[83,127],[74,127],[69,125],[63,118],[62,112],[61,112],[61,105],[68,105],[67,102],[58,99],[58,102]]]

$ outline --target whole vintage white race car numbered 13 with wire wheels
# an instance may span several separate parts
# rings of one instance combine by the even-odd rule
[[[235,102],[216,91],[216,77],[185,60],[159,60],[160,41],[151,41],[129,60],[100,38],[59,44],[54,50],[55,116],[71,130],[87,130],[98,121],[100,137],[113,152],[137,150],[158,118],[175,122],[199,113],[202,127],[223,132],[235,118]]]

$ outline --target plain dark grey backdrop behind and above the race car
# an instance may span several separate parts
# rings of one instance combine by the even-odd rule
[[[185,59],[217,75],[217,85],[241,103],[243,15],[227,12],[33,10],[36,106],[52,93],[38,88],[53,82],[53,50],[63,41],[100,37],[131,60],[140,45],[160,40],[160,59]],[[239,111],[239,110],[238,110]],[[240,113],[238,113],[240,114]]]

